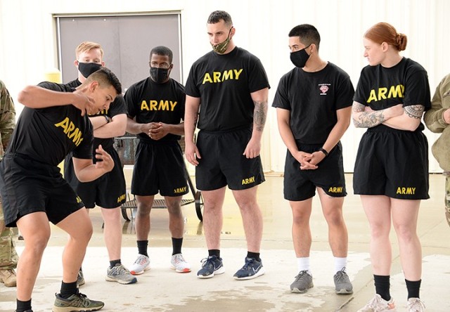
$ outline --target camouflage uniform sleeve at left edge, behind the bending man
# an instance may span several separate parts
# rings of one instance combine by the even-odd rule
[[[0,160],[8,146],[15,127],[15,107],[13,98],[0,80]]]

